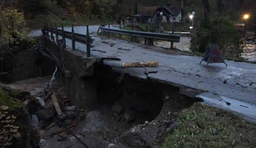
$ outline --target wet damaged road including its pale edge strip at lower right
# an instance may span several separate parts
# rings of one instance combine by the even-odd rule
[[[200,65],[201,57],[99,36],[98,28],[98,25],[89,26],[89,35],[93,39],[91,56],[111,67],[112,71],[176,86],[181,95],[204,99],[206,104],[241,113],[256,121],[255,64],[225,61],[229,67],[224,64]],[[72,27],[64,27],[64,30],[72,32]],[[88,34],[86,26],[75,26],[73,31]],[[68,47],[65,50],[73,53],[72,39],[65,40]],[[76,43],[75,52],[76,56],[88,59],[86,44]],[[159,62],[159,67],[122,67],[124,62],[152,61]]]

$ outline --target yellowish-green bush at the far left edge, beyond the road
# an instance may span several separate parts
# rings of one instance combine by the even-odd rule
[[[27,28],[23,12],[11,8],[2,11],[2,31],[3,37],[11,39],[12,44],[18,44],[24,39]]]

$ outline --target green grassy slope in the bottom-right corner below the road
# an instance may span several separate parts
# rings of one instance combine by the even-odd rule
[[[256,124],[197,103],[179,114],[178,127],[163,145],[172,147],[256,147]]]

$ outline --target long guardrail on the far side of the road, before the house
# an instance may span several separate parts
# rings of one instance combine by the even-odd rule
[[[173,34],[161,34],[135,30],[116,30],[111,28],[105,28],[102,26],[100,26],[100,29],[102,30],[102,32],[107,32],[109,34],[114,33],[119,35],[129,35],[131,37],[145,38],[145,44],[146,40],[148,40],[148,44],[154,44],[154,39],[167,40],[171,42],[171,48],[173,48],[173,42],[179,42],[180,40],[180,35]]]

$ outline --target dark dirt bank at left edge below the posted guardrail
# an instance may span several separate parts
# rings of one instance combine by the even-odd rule
[[[55,63],[38,53],[38,44],[34,47],[4,47],[0,50],[0,81],[3,83],[50,76],[54,70]]]

